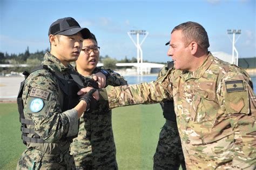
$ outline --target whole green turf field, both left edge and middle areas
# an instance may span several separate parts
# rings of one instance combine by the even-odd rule
[[[159,104],[114,108],[112,124],[119,169],[152,169],[160,128]],[[0,169],[15,169],[25,149],[16,103],[0,103]]]

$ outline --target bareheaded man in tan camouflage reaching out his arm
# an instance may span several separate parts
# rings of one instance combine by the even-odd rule
[[[203,26],[182,23],[172,30],[167,52],[175,69],[158,81],[108,86],[93,96],[108,101],[110,108],[173,98],[187,169],[255,169],[256,98],[251,78],[240,67],[212,56],[209,46]]]

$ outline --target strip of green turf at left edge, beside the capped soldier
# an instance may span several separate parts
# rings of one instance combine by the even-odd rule
[[[15,169],[25,149],[16,103],[0,103],[0,168]]]

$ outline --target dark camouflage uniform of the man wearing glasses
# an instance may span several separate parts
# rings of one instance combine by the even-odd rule
[[[96,67],[93,74],[100,70],[102,67]],[[106,86],[127,85],[127,81],[120,74],[112,70],[106,71],[109,72]],[[107,105],[99,105],[97,110],[86,112],[80,117],[78,137],[71,144],[71,154],[75,158],[76,166],[117,169],[111,115]]]

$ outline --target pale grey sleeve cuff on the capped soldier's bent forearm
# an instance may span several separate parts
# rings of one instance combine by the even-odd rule
[[[78,133],[78,112],[75,108],[68,110],[65,114],[69,118],[69,132],[66,137],[72,137]]]

